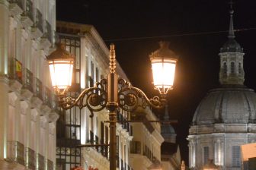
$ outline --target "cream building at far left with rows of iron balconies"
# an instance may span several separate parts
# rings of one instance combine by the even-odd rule
[[[57,114],[49,54],[55,0],[0,1],[0,169],[54,169]]]

